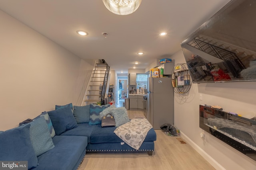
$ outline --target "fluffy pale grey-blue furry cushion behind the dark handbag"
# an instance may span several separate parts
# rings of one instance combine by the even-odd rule
[[[115,107],[114,105],[111,105],[110,107],[100,112],[100,117],[106,116],[108,113],[114,116],[114,119],[116,121],[116,127],[130,121],[127,110],[124,107]]]

